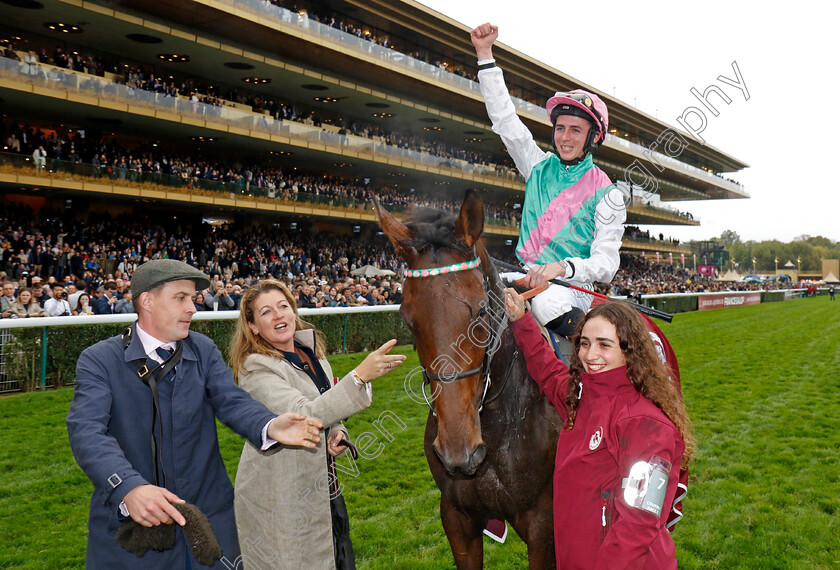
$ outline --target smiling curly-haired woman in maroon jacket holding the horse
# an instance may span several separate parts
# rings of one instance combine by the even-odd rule
[[[564,421],[554,467],[557,567],[676,568],[665,522],[694,441],[641,318],[618,302],[594,307],[567,368],[522,298],[509,289],[506,302],[528,372]]]

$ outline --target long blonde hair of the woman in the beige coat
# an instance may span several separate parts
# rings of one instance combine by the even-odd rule
[[[280,281],[265,279],[249,288],[242,296],[239,304],[239,318],[236,321],[236,331],[230,343],[230,367],[233,369],[233,377],[238,382],[239,375],[247,372],[245,359],[251,354],[265,354],[275,358],[283,358],[283,353],[268,344],[262,337],[254,334],[248,323],[254,324],[254,305],[263,293],[268,291],[280,291],[295,312],[295,331],[315,330],[315,356],[316,358],[326,357],[326,344],[324,335],[315,329],[315,326],[300,318],[297,312],[297,303],[292,292],[289,291]]]

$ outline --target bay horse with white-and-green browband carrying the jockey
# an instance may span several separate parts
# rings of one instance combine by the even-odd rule
[[[457,217],[432,210],[406,224],[376,209],[410,268],[400,313],[433,397],[424,449],[455,564],[482,567],[483,529],[498,518],[528,545],[530,568],[554,568],[552,476],[563,422],[506,326],[503,284],[479,239],[484,207],[468,193]]]

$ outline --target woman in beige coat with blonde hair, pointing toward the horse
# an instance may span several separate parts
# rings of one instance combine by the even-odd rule
[[[388,341],[333,385],[321,335],[300,319],[285,285],[261,281],[242,297],[231,345],[239,385],[271,411],[318,417],[327,430],[315,449],[261,451],[245,443],[235,484],[245,568],[335,568],[330,499],[336,485],[327,454],[347,450],[341,420],[370,405],[368,382],[405,360],[388,354],[395,344]]]

